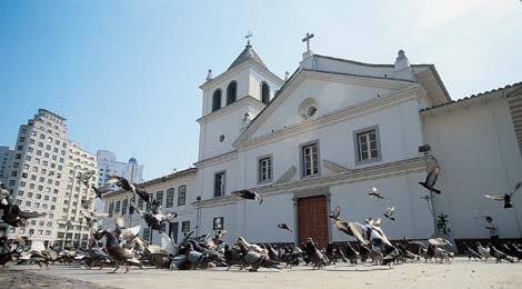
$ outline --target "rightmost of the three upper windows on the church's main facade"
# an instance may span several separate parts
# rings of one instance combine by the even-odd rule
[[[379,127],[353,132],[355,143],[355,165],[363,165],[381,160]]]

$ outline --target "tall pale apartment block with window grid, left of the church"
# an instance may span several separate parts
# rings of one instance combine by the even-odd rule
[[[78,177],[91,170],[98,171],[96,157],[67,138],[66,119],[39,109],[20,126],[7,185],[22,210],[46,212],[46,217],[31,219],[11,233],[57,248],[86,247],[89,227],[80,206],[93,192]],[[96,180],[94,173],[91,182]]]

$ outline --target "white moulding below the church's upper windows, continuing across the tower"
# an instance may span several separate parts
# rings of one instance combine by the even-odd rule
[[[345,183],[361,182],[367,180],[375,180],[390,178],[395,176],[404,176],[415,172],[425,172],[425,162],[423,157],[411,158],[394,162],[388,162],[361,169],[354,169],[348,172],[331,175],[327,177],[307,178],[303,180],[295,180],[291,182],[284,182],[280,185],[264,186],[254,188],[254,190],[261,196],[275,196],[290,193],[295,191],[309,190],[314,188],[324,188],[330,186],[339,186]],[[235,196],[224,196],[203,200],[199,202],[200,208],[211,208],[218,206],[233,205],[241,201]],[[194,207],[197,202],[192,202]]]

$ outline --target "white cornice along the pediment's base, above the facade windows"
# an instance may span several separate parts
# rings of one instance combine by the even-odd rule
[[[328,114],[324,114],[318,119],[303,120],[303,122],[287,127],[274,132],[259,136],[253,139],[243,140],[237,142],[233,146],[238,150],[245,150],[252,147],[260,146],[262,143],[289,138],[295,134],[300,134],[310,130],[320,129],[333,123],[338,123],[348,119],[357,118],[363,114],[368,114],[374,111],[383,110],[392,106],[418,99],[419,97],[425,96],[424,90],[420,84],[412,84],[408,88],[404,88],[400,91],[394,91],[391,94],[383,96],[380,98],[371,99],[351,107],[348,107],[342,110],[338,110]]]

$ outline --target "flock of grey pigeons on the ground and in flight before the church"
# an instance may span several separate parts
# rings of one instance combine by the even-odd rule
[[[440,166],[434,166],[430,170],[424,181],[419,182],[428,191],[440,195],[435,182],[441,171]],[[143,265],[153,265],[157,267],[177,269],[195,269],[213,266],[239,266],[240,269],[248,268],[257,271],[259,268],[278,268],[297,266],[300,263],[311,265],[313,268],[321,269],[324,266],[335,262],[367,262],[372,260],[375,265],[390,266],[392,263],[405,260],[425,261],[435,259],[441,262],[450,262],[453,252],[444,250],[442,247],[453,246],[448,240],[438,238],[429,239],[428,242],[419,241],[396,241],[391,242],[381,228],[381,218],[368,218],[363,222],[344,221],[341,219],[341,207],[337,206],[329,215],[334,227],[341,232],[354,238],[357,242],[345,242],[344,245],[329,243],[327,248],[319,248],[312,238],[308,238],[299,247],[292,245],[275,246],[271,243],[251,243],[244,237],[239,237],[234,245],[224,243],[221,238],[227,233],[225,230],[215,231],[214,236],[208,233],[203,237],[192,237],[193,231],[188,233],[181,242],[175,243],[170,236],[162,231],[163,223],[171,222],[177,218],[173,211],[163,211],[161,205],[152,200],[150,195],[143,187],[132,183],[129,180],[113,176],[103,187],[96,188],[90,185],[93,171],[80,175],[80,180],[94,192],[94,198],[102,198],[103,193],[109,192],[113,185],[123,190],[130,191],[133,198],[130,206],[134,211],[144,219],[147,226],[151,230],[157,230],[161,235],[161,246],[149,243],[139,237],[141,226],[124,228],[124,221],[121,217],[114,218],[114,230],[100,228],[99,220],[107,218],[107,213],[99,213],[92,210],[94,198],[87,198],[81,201],[83,207],[82,213],[88,220],[92,236],[88,250],[62,250],[56,251],[50,248],[33,246],[26,248],[21,240],[17,240],[19,245],[13,250],[3,250],[0,252],[0,265],[6,265],[13,258],[19,262],[32,261],[39,266],[52,262],[81,262],[86,269],[107,266],[114,266],[117,272],[121,265],[126,267],[126,272],[130,266],[142,267]],[[519,182],[512,191],[504,196],[485,196],[490,199],[504,201],[504,208],[511,208],[511,198],[521,187]],[[237,190],[232,195],[245,200],[253,200],[261,205],[263,199],[254,190]],[[368,195],[375,199],[384,199],[377,188],[372,188]],[[135,206],[135,198],[141,198],[145,202],[147,209],[142,210]],[[2,220],[12,227],[20,227],[27,223],[29,218],[38,218],[41,213],[22,211],[13,203],[9,192],[1,185],[0,209],[3,210]],[[388,207],[383,217],[394,221],[395,207]],[[293,232],[292,228],[287,223],[278,223],[277,228]],[[100,247],[100,240],[106,239],[104,247]],[[6,238],[4,238],[6,239]],[[6,242],[3,243],[6,246]],[[522,247],[514,243],[505,243],[502,248],[495,248],[488,243],[482,247],[475,243],[474,247],[462,243],[463,252],[474,259],[495,258],[496,261],[508,260],[514,262],[522,259]]]

